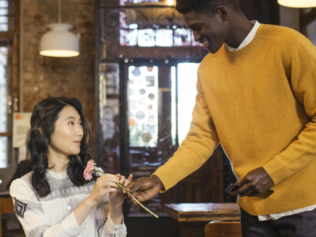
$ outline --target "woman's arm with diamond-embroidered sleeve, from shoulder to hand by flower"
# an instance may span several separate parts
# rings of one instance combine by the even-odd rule
[[[88,214],[101,202],[104,195],[111,191],[116,192],[117,189],[113,186],[117,187],[117,182],[119,178],[114,175],[98,178],[88,199],[64,220],[53,226],[50,225],[49,218],[44,215],[35,191],[26,181],[14,180],[10,187],[10,195],[26,236],[69,237],[79,235],[86,228],[83,222]],[[108,186],[110,188],[107,188]]]

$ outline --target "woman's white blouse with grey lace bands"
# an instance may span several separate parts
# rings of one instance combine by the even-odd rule
[[[114,225],[109,215],[108,194],[87,216],[82,225],[78,225],[73,211],[85,201],[91,193],[95,181],[76,187],[67,176],[67,172],[48,171],[47,179],[51,193],[39,198],[32,185],[31,173],[16,179],[10,186],[16,216],[28,237],[125,237],[125,224]],[[54,182],[55,181],[55,182]],[[62,192],[62,193],[61,193]],[[71,210],[67,210],[67,202]]]

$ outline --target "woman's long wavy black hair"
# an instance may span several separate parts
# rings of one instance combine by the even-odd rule
[[[29,163],[29,171],[32,172],[31,183],[40,197],[47,196],[51,192],[46,178],[47,169],[52,168],[48,167],[48,146],[51,143],[59,113],[66,106],[72,106],[77,110],[84,130],[80,153],[69,156],[67,175],[75,186],[82,186],[89,182],[84,179],[83,173],[88,161],[94,158],[94,151],[91,142],[91,127],[83,114],[82,104],[80,100],[71,97],[47,98],[35,105],[31,116],[31,129],[26,138],[26,159]]]

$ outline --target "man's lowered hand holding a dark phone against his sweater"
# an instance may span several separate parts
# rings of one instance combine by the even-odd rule
[[[242,180],[236,182],[236,184],[244,185],[244,187],[231,192],[232,195],[239,194],[239,196],[256,196],[274,185],[272,179],[263,167],[250,171]]]

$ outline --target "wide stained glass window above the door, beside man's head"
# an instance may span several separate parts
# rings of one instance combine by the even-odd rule
[[[121,0],[120,3],[121,5],[131,5],[155,2],[155,0]],[[183,28],[184,22],[182,17],[181,19],[178,19],[174,16],[175,19],[171,20],[169,12],[170,10],[167,10],[163,13],[160,13],[160,15],[155,13],[156,15],[154,17],[158,17],[157,20],[152,20],[150,18],[152,16],[148,16],[141,11],[135,11],[132,8],[125,9],[124,11],[120,12],[121,46],[201,46],[200,43],[196,43],[194,41],[191,30]]]

